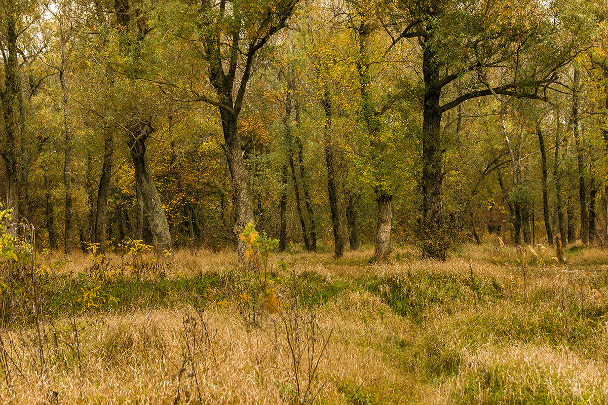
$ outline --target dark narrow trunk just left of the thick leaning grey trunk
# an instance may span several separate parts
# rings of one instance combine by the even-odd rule
[[[108,217],[108,194],[112,179],[113,155],[114,136],[106,130],[103,139],[102,176],[99,179],[97,211],[95,212],[95,243],[99,244],[99,252],[101,254],[106,254],[106,219]]]

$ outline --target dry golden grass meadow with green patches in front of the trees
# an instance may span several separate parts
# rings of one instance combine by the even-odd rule
[[[43,260],[2,301],[0,401],[608,403],[608,251],[565,254]]]

